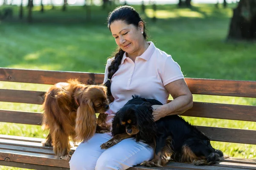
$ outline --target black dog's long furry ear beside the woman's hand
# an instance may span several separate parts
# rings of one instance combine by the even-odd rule
[[[150,141],[155,136],[156,124],[152,116],[151,105],[147,102],[142,105],[138,105],[136,108],[137,125],[140,129],[140,133],[136,136],[136,140]]]

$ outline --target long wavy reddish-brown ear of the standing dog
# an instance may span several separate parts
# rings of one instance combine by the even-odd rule
[[[90,99],[79,101],[76,112],[76,142],[87,141],[96,131],[96,115]]]

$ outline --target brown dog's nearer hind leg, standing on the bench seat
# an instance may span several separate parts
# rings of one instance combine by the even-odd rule
[[[61,127],[57,127],[53,131],[53,150],[58,159],[64,159],[69,161],[71,158],[71,155],[69,154],[70,143],[69,136],[65,132],[66,131]]]

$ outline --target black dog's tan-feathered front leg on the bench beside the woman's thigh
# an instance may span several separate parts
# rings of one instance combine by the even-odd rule
[[[171,159],[172,154],[172,137],[157,137],[155,141],[154,158],[151,161],[144,161],[143,165],[147,167],[163,167]]]

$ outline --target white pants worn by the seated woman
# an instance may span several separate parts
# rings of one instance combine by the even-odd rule
[[[79,144],[70,160],[70,170],[126,170],[153,159],[154,150],[133,138],[124,139],[107,150],[100,145],[111,139],[109,133],[96,133]]]

